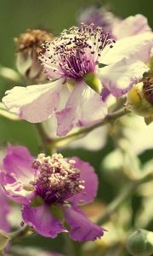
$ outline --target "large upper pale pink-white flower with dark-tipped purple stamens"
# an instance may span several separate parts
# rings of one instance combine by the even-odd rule
[[[31,123],[42,122],[56,112],[58,136],[74,126],[94,125],[107,114],[105,102],[97,92],[101,83],[115,97],[126,94],[149,70],[144,62],[149,60],[152,44],[152,33],[133,40],[124,38],[115,44],[100,27],[72,27],[42,45],[39,59],[50,83],[14,87],[6,92],[3,103]],[[65,108],[58,110],[61,89],[66,84],[71,93]]]

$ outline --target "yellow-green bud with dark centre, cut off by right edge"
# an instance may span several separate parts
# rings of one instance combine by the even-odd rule
[[[127,94],[127,108],[134,113],[153,120],[153,79],[147,78],[144,82],[135,84]]]

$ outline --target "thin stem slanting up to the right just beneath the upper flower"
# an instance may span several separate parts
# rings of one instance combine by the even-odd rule
[[[130,113],[130,112],[126,108],[122,108],[122,109],[116,111],[115,113],[110,113],[105,117],[105,119],[103,119],[101,122],[99,122],[95,125],[91,125],[87,128],[82,128],[80,131],[73,132],[66,137],[60,137],[60,138],[54,139],[54,142],[52,142],[52,145],[54,144],[55,147],[59,147],[60,143],[63,141],[70,142],[72,140],[76,140],[77,138],[87,135],[88,132],[93,131],[94,129],[98,128],[99,126],[116,121],[116,119],[122,117],[123,115],[125,115],[127,113]]]

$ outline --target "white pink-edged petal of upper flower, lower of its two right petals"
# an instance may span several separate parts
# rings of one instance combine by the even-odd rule
[[[113,96],[118,97],[126,94],[148,70],[142,61],[124,58],[115,64],[99,68],[99,79]]]

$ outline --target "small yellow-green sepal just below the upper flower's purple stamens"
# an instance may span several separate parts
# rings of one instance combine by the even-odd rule
[[[101,92],[101,82],[96,77],[95,73],[87,73],[83,77],[84,82],[88,84],[93,90],[100,93]]]

